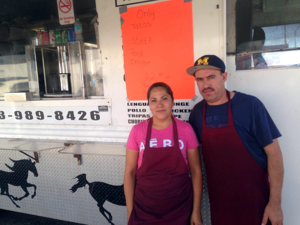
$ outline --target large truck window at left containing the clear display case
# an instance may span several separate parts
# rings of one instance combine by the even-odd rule
[[[30,100],[104,98],[95,0],[74,0],[73,7],[83,39],[65,34],[63,43],[39,43],[40,32],[51,39],[50,31],[74,29],[59,24],[56,1],[0,3],[6,9],[0,14],[0,100],[20,92]]]

